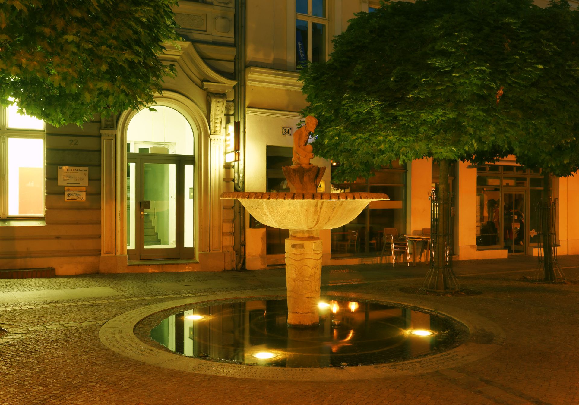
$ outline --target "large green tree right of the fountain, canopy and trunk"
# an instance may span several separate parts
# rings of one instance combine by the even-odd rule
[[[559,37],[562,19],[567,35]],[[554,150],[541,150],[538,139],[549,142],[555,120],[565,117],[571,128],[579,117],[576,21],[565,1],[541,9],[530,0],[417,0],[357,14],[335,38],[330,60],[301,73],[304,112],[319,120],[316,153],[340,162],[338,180],[367,177],[395,159],[433,157],[443,205],[451,161],[514,152],[528,165],[546,163],[532,162],[536,153],[554,162]],[[545,102],[549,91],[556,94]],[[564,114],[569,102],[572,113]],[[576,144],[569,131],[563,139]],[[525,145],[538,151],[523,154]],[[438,220],[448,228],[446,215]],[[438,235],[428,289],[453,288],[442,252]]]

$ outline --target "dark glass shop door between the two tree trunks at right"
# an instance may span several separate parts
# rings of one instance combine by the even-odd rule
[[[526,252],[526,193],[503,192],[503,244],[508,253]]]

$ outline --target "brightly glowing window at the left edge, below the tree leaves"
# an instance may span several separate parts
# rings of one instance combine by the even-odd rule
[[[0,109],[0,218],[44,216],[44,122]]]

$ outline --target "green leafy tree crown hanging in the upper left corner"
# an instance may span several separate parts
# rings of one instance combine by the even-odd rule
[[[174,73],[177,0],[0,0],[0,105],[59,126],[138,109]]]

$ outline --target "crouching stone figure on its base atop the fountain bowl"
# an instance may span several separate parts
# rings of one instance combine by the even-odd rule
[[[292,193],[316,193],[317,186],[324,176],[325,167],[310,164],[314,154],[312,145],[307,143],[310,132],[316,129],[318,120],[311,115],[306,117],[305,126],[294,132],[294,145],[292,147],[292,165],[281,169],[285,178],[290,183]]]

